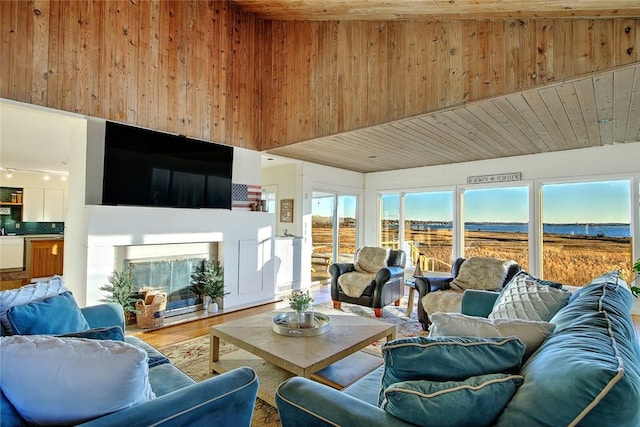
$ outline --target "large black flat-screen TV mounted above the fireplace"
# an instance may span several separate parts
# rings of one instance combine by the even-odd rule
[[[102,204],[231,209],[233,147],[107,122]]]

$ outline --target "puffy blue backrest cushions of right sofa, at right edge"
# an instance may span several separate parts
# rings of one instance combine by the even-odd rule
[[[617,272],[587,285],[522,368],[500,426],[640,425],[640,348]],[[625,312],[626,310],[626,312]]]

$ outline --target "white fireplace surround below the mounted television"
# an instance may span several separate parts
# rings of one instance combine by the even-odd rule
[[[100,287],[121,268],[128,254],[145,258],[174,256],[184,249],[201,253],[213,242],[217,243],[225,291],[229,292],[225,309],[274,297],[273,214],[90,205],[85,215],[86,305],[104,298]]]

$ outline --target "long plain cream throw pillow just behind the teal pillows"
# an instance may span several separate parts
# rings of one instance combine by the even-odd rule
[[[521,319],[485,319],[460,313],[433,313],[429,316],[430,337],[508,337],[516,336],[527,347],[524,358],[534,351],[553,333],[555,325],[549,322]]]

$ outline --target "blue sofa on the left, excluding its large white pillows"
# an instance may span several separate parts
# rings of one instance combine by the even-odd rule
[[[56,296],[55,298],[58,297],[59,296]],[[86,320],[88,328],[91,330],[109,328],[115,329],[116,331],[119,328],[124,330],[125,325],[122,307],[118,304],[100,304],[79,310]],[[36,312],[42,314],[44,311],[42,308],[39,308]],[[64,316],[63,313],[59,312],[58,315]],[[116,328],[113,328],[114,326]],[[6,343],[16,338],[33,339],[38,337],[36,335],[27,336],[15,334],[14,336],[9,336],[9,331],[4,326],[2,327],[2,335],[0,339],[3,341],[6,340]],[[47,336],[46,338],[49,337]],[[96,342],[97,341],[91,340],[92,344]],[[143,370],[146,371],[146,364],[148,363],[148,384],[150,384],[155,398],[116,412],[107,413],[98,418],[86,420],[82,425],[110,427],[147,425],[218,425],[235,427],[251,425],[258,390],[258,378],[252,369],[247,367],[239,368],[197,383],[173,366],[163,354],[144,341],[136,337],[126,336],[124,337],[124,343],[120,341],[118,345],[123,347],[133,345],[136,348],[143,349],[146,353],[146,356],[142,354],[145,364],[143,365]],[[0,350],[8,350],[8,348],[6,348],[8,346],[3,344],[3,342],[0,342]],[[134,352],[141,354],[140,351],[135,349]],[[2,366],[2,364],[6,363],[9,363],[6,359],[0,360],[0,367],[2,367],[3,372],[10,372],[17,366]],[[46,368],[33,367],[33,369],[44,370]],[[96,374],[99,374],[99,372],[96,372]],[[98,375],[96,375],[96,378],[97,377]],[[101,387],[101,384],[96,378],[89,377],[83,381],[89,382],[90,387],[95,390]],[[9,378],[0,379],[0,384],[2,384],[3,387],[8,382]],[[55,393],[55,385],[48,384],[44,385],[44,387],[49,388],[51,393]],[[14,407],[12,401],[7,397],[9,393],[7,392],[7,395],[5,395],[6,391],[4,388],[0,391],[0,425],[3,427],[28,425],[26,420],[20,415],[21,412],[18,410],[20,408]],[[15,385],[13,391],[15,392]]]

